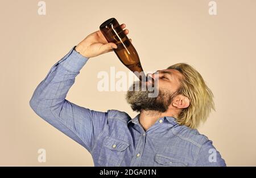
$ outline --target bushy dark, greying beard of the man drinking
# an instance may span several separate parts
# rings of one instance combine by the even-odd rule
[[[139,86],[139,91],[134,90],[135,85]],[[166,112],[169,105],[172,103],[172,100],[177,95],[176,92],[170,92],[158,87],[155,89],[158,90],[158,96],[150,98],[148,97],[148,94],[152,91],[143,91],[141,86],[141,81],[134,82],[126,94],[127,103],[131,105],[133,111],[141,112],[144,110]]]

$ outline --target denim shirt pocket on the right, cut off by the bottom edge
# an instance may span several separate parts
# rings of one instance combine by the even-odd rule
[[[188,164],[184,163],[181,160],[176,159],[176,158],[171,158],[168,156],[156,154],[154,166],[155,167],[157,167],[157,166],[159,166],[159,167],[164,167],[164,166],[166,166],[166,167],[171,167],[171,166],[184,167],[184,166],[188,166]]]

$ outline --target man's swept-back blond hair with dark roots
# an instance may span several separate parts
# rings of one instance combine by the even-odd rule
[[[207,87],[199,72],[187,63],[176,63],[167,69],[176,69],[183,74],[179,94],[187,96],[190,100],[189,107],[184,108],[178,116],[175,116],[176,121],[180,125],[195,129],[201,122],[207,120],[212,109],[215,111],[212,91]]]

